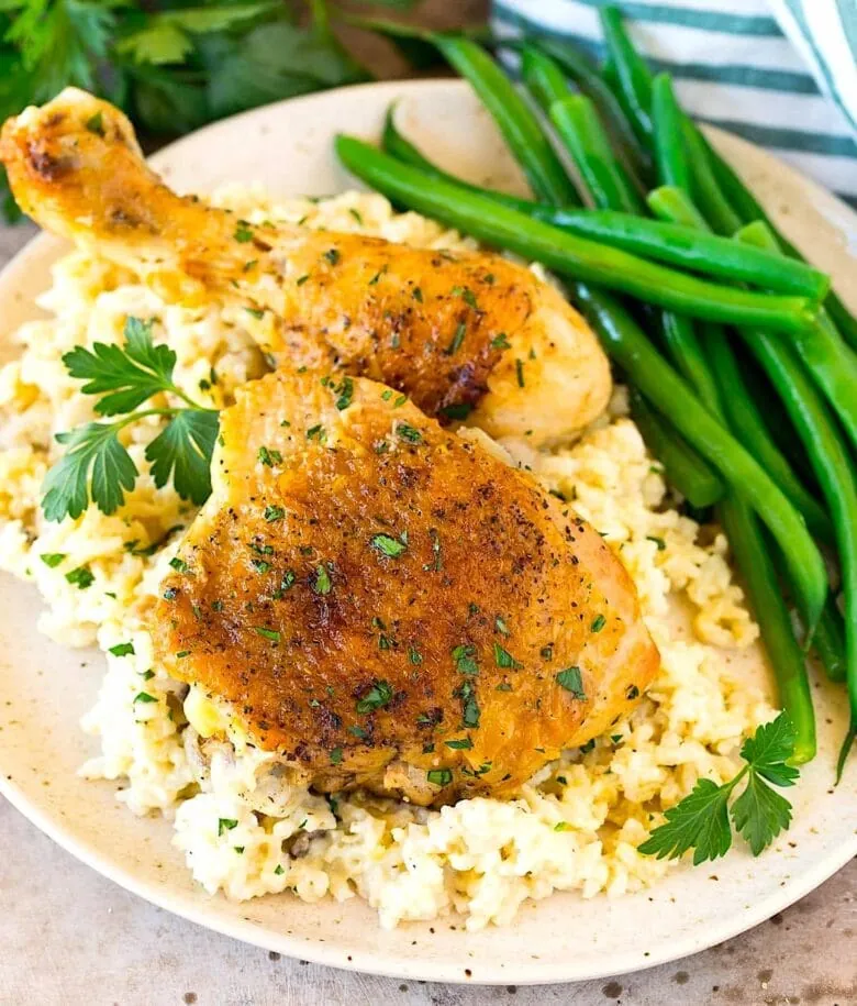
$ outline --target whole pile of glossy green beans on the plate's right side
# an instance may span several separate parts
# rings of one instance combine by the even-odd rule
[[[669,482],[695,513],[714,506],[728,535],[795,763],[815,754],[810,651],[845,683],[841,774],[857,726],[857,321],[681,109],[669,76],[653,76],[620,13],[599,12],[609,73],[533,37],[510,45],[523,89],[474,42],[433,36],[534,199],[441,170],[392,110],[382,150],[340,136],[336,151],[398,206],[566,280]]]

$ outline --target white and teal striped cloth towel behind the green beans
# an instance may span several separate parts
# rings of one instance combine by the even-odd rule
[[[494,0],[500,37],[569,38],[601,58],[608,0]],[[697,119],[769,147],[857,207],[857,0],[616,0]]]

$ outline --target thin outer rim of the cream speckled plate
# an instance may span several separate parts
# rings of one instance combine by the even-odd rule
[[[149,163],[157,169],[165,157],[175,156],[183,144],[197,142],[200,135],[213,133],[226,125],[234,126],[237,122],[249,121],[261,111],[270,114],[275,109],[288,109],[297,103],[323,103],[325,101],[335,100],[336,96],[343,91],[387,92],[391,97],[407,97],[409,92],[415,93],[445,88],[469,89],[465,81],[455,78],[371,81],[285,99],[210,123],[163,147],[154,157],[149,158]],[[706,126],[705,131],[715,141],[721,137],[727,137],[727,142],[734,144],[738,150],[743,147],[750,148],[757,155],[761,154],[769,162],[776,163],[782,170],[797,179],[800,179],[802,188],[808,194],[808,199],[815,199],[821,196],[827,200],[833,200],[832,204],[835,204],[837,212],[846,220],[850,219],[855,232],[857,232],[857,212],[848,207],[847,203],[838,199],[835,194],[827,191],[823,186],[819,185],[813,179],[808,178],[799,169],[784,164],[780,158],[770,154],[768,151],[758,147],[756,144],[749,143],[725,130]],[[15,274],[19,269],[26,267],[30,257],[48,253],[51,245],[55,245],[56,251],[58,252],[65,246],[65,242],[44,232],[36,234],[0,272],[0,285],[9,283],[10,280],[14,281]],[[665,946],[660,953],[652,951],[648,952],[647,957],[644,957],[641,950],[636,948],[627,951],[622,951],[620,949],[614,954],[615,965],[611,963],[609,971],[604,971],[603,968],[597,965],[591,966],[589,970],[581,969],[579,964],[575,968],[572,961],[563,961],[558,963],[533,961],[532,963],[517,963],[514,973],[502,974],[498,971],[486,976],[475,976],[468,973],[469,968],[466,958],[464,958],[460,963],[453,962],[449,959],[425,961],[418,958],[411,960],[394,953],[378,951],[367,952],[358,948],[355,948],[353,952],[348,953],[347,948],[343,944],[325,943],[318,939],[311,940],[297,933],[289,935],[276,932],[266,928],[264,924],[231,918],[216,911],[210,914],[207,911],[205,902],[194,903],[185,897],[181,893],[172,893],[166,882],[157,882],[156,878],[141,878],[131,869],[114,863],[104,853],[92,849],[87,842],[77,838],[76,834],[64,825],[62,815],[52,816],[49,810],[40,806],[35,799],[27,797],[24,789],[19,787],[14,780],[7,778],[3,773],[0,773],[0,795],[4,796],[18,811],[34,823],[42,832],[48,836],[56,844],[69,852],[96,873],[101,874],[120,887],[130,891],[151,904],[205,929],[265,950],[277,951],[291,958],[300,958],[311,961],[312,963],[338,968],[346,971],[365,972],[388,977],[448,982],[464,985],[507,985],[510,983],[517,985],[542,985],[561,982],[591,981],[643,971],[659,964],[670,963],[691,954],[699,953],[702,950],[722,943],[724,940],[731,939],[758,926],[776,913],[781,911],[800,900],[802,897],[805,897],[810,892],[814,891],[834,873],[845,866],[850,859],[857,855],[857,833],[855,833],[852,836],[850,840],[844,842],[835,853],[831,852],[812,867],[802,870],[798,877],[789,881],[787,886],[771,891],[767,897],[756,903],[753,910],[735,915],[734,917],[724,920],[719,926],[709,924],[700,935],[694,932],[683,939],[672,941],[668,946]],[[627,896],[634,897],[633,894]],[[514,922],[504,928],[509,931],[509,929],[513,927]],[[465,938],[464,933],[463,938]]]

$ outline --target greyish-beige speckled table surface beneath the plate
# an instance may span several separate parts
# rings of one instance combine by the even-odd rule
[[[0,228],[0,265],[30,233]],[[405,983],[235,942],[93,873],[2,798],[0,904],[2,1006],[857,1006],[854,861],[787,911],[704,953],[613,980],[531,988]]]

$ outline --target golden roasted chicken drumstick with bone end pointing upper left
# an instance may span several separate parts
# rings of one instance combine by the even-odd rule
[[[604,408],[598,341],[553,287],[498,255],[430,251],[283,224],[249,225],[179,198],[127,119],[69,88],[10,119],[0,157],[26,213],[172,299],[265,312],[257,338],[296,366],[342,366],[407,388],[442,419],[538,444]]]

